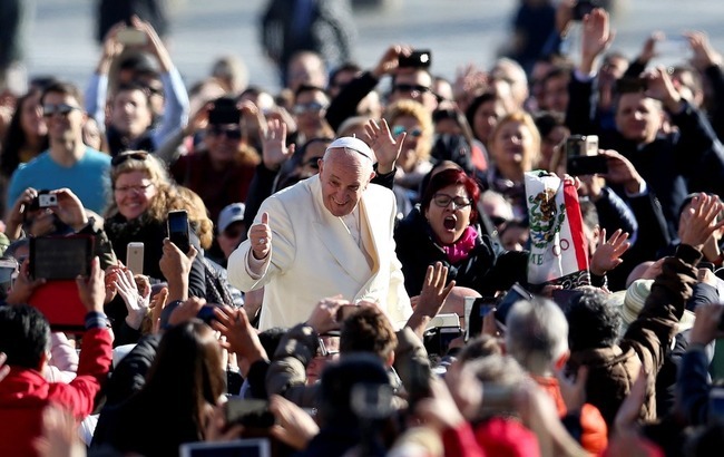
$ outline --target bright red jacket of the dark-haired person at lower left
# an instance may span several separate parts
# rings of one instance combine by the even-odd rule
[[[69,383],[48,382],[37,370],[10,367],[0,381],[0,456],[37,456],[32,443],[42,432],[42,410],[49,402],[68,408],[78,420],[94,410],[94,400],[111,364],[108,329],[82,337],[78,376]]]

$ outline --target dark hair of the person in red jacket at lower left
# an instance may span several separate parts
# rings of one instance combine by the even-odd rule
[[[7,364],[38,370],[50,349],[50,324],[28,304],[0,307],[0,352]]]

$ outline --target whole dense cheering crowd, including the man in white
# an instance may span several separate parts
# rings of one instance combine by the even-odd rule
[[[187,88],[134,17],[86,88],[3,99],[0,455],[717,455],[722,55],[546,11],[579,55],[302,49],[278,93],[228,56]],[[577,194],[583,284],[531,279],[531,176]]]

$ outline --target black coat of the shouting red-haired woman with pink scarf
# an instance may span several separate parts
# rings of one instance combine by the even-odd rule
[[[483,296],[507,291],[516,281],[527,283],[528,252],[497,249],[487,235],[479,236],[467,259],[450,263],[419,205],[400,221],[394,241],[404,286],[411,296],[420,294],[428,265],[436,262],[448,266],[448,281],[456,280],[457,285],[474,289]]]

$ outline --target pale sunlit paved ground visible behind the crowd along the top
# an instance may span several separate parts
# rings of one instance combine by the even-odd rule
[[[276,88],[274,68],[262,56],[256,21],[265,0],[169,0],[172,55],[187,84],[204,76],[225,54],[241,56],[254,84]],[[634,56],[655,29],[708,32],[724,51],[724,2],[711,0],[619,0],[615,47]],[[29,45],[31,75],[53,74],[85,85],[98,46],[92,39],[94,1],[39,0]],[[374,65],[391,42],[433,51],[436,74],[451,77],[462,64],[488,66],[505,42],[517,0],[393,0],[379,10],[358,11],[355,58]]]

